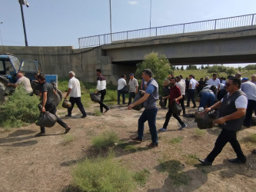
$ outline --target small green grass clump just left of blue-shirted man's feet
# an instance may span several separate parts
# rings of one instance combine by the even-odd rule
[[[118,134],[116,134],[114,131],[107,131],[92,138],[92,145],[98,150],[109,147],[117,142]]]

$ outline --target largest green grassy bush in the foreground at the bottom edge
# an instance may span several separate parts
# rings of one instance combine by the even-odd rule
[[[73,171],[75,186],[83,191],[133,191],[131,173],[112,157],[97,157],[79,163]]]

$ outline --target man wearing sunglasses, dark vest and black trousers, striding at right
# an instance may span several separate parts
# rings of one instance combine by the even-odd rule
[[[222,127],[222,131],[221,134],[219,134],[211,153],[208,154],[204,160],[198,160],[203,165],[211,165],[215,157],[221,153],[223,147],[228,142],[237,154],[237,158],[228,161],[233,164],[245,164],[246,162],[246,157],[244,156],[243,151],[241,151],[240,144],[237,140],[237,131],[241,130],[248,104],[248,98],[244,92],[240,90],[240,87],[240,79],[229,78],[225,85],[228,93],[225,94],[221,101],[218,101],[210,108],[204,110],[204,112],[208,112],[220,108],[220,117],[215,121],[215,124],[219,124]]]

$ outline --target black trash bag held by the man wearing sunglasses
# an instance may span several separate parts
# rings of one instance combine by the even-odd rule
[[[210,111],[209,113],[194,113],[194,121],[197,122],[199,129],[208,129],[214,127],[214,121],[217,119],[215,111]]]

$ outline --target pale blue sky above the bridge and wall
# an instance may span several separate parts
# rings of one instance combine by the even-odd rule
[[[18,0],[0,0],[0,45],[25,46]],[[28,46],[73,46],[110,33],[110,0],[27,0]],[[151,6],[150,6],[151,5]],[[151,12],[151,19],[150,19]],[[111,0],[112,32],[256,13],[255,0]]]

